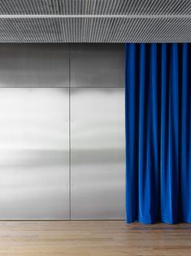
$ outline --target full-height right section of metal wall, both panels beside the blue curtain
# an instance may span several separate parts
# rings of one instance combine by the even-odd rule
[[[124,219],[124,45],[70,50],[71,218]]]

